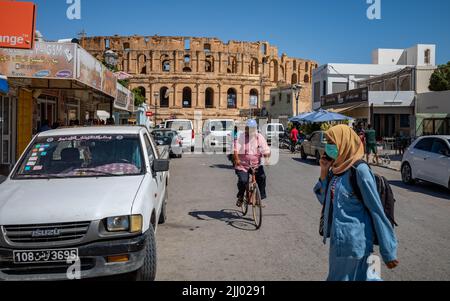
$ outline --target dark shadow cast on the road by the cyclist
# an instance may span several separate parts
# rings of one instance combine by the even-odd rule
[[[220,211],[192,211],[189,212],[189,215],[201,221],[219,220],[239,230],[257,230],[253,220],[242,216],[242,213],[238,210],[223,209]]]

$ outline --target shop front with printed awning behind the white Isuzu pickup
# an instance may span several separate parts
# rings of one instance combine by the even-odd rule
[[[4,170],[41,130],[95,124],[98,107],[113,110],[120,86],[109,69],[73,43],[36,42],[31,50],[0,49],[0,74],[9,84],[0,102]]]

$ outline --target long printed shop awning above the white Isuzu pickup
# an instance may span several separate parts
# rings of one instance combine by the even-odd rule
[[[118,106],[134,111],[133,93],[78,44],[36,42],[30,50],[0,48],[0,74],[29,89],[90,90],[112,100],[117,100],[120,90]]]

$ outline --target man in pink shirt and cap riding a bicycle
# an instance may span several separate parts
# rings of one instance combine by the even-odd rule
[[[245,127],[245,133],[241,134],[234,145],[234,162],[236,175],[238,177],[238,194],[236,206],[241,207],[245,190],[249,181],[249,172],[253,169],[256,174],[256,182],[261,193],[261,200],[266,195],[266,174],[261,165],[261,158],[270,157],[270,147],[266,139],[258,133],[258,124],[256,120],[248,120]]]

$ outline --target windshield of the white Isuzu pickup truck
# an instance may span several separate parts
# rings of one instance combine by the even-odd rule
[[[112,177],[144,169],[137,135],[54,136],[34,141],[13,178]]]

